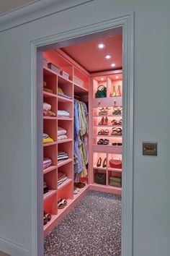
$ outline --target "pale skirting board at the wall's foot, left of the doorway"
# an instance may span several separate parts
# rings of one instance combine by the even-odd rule
[[[0,237],[0,249],[11,256],[29,256],[29,249]]]

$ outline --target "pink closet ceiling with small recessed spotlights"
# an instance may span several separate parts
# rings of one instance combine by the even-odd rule
[[[104,43],[105,47],[99,49],[97,47],[99,43]],[[89,72],[122,68],[122,35],[80,43],[64,47],[62,50]],[[107,54],[111,55],[112,58],[105,59],[104,56]],[[110,64],[112,63],[115,63],[116,66],[111,67]]]

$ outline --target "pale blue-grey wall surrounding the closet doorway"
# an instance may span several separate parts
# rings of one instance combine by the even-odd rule
[[[132,11],[135,12],[133,255],[170,255],[169,0],[94,0],[0,34],[0,242],[6,239],[30,249],[30,40]],[[143,140],[158,141],[158,157],[142,155]]]

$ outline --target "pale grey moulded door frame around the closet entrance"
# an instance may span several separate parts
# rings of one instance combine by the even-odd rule
[[[30,42],[30,75],[32,90],[32,242],[31,255],[39,256],[37,218],[39,216],[37,202],[40,198],[37,186],[37,48],[57,43],[61,40],[79,38],[91,33],[98,33],[115,27],[123,31],[123,145],[122,145],[122,256],[133,255],[133,51],[134,51],[134,18],[133,13],[122,15],[95,24],[57,33]],[[40,236],[40,237],[38,237]]]

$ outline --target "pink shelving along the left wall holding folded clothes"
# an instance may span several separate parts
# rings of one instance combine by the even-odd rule
[[[44,157],[52,160],[52,165],[43,170],[43,176],[49,191],[43,195],[44,210],[51,214],[51,220],[44,226],[44,236],[46,236],[63,216],[75,205],[84,193],[89,189],[89,185],[80,190],[79,195],[73,195],[73,98],[74,95],[87,95],[89,88],[89,73],[76,64],[71,58],[61,50],[45,51],[43,53],[48,62],[55,64],[61,72],[56,72],[48,67],[43,67],[43,80],[46,88],[50,91],[43,91],[43,100],[49,103],[51,110],[56,116],[43,116],[43,132],[47,133],[54,141],[43,145]],[[62,74],[66,72],[68,77]],[[81,80],[81,85],[74,82],[74,77]],[[58,88],[63,90],[65,98],[58,95]],[[58,110],[68,111],[69,116],[58,116]],[[67,138],[58,140],[58,127],[66,129]],[[58,151],[68,154],[68,159],[58,162]],[[67,179],[58,185],[58,173],[66,174]],[[58,209],[58,200],[66,199],[67,205]]]

